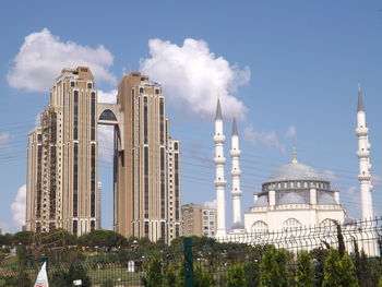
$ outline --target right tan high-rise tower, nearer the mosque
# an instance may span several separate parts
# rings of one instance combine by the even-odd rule
[[[115,141],[115,229],[166,241],[180,231],[179,141],[168,135],[158,83],[132,72],[118,88],[123,125]]]

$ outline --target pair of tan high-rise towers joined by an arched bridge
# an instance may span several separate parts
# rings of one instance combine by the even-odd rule
[[[169,136],[162,86],[132,72],[117,104],[102,104],[86,67],[62,70],[28,135],[27,230],[80,236],[100,227],[98,124],[115,127],[115,230],[166,242],[180,236],[180,145]]]

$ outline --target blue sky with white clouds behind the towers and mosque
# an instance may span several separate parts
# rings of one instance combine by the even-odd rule
[[[25,217],[26,141],[64,67],[89,65],[99,100],[123,74],[163,85],[181,141],[182,203],[215,200],[214,110],[222,100],[231,223],[230,129],[238,119],[242,212],[271,174],[314,167],[360,216],[356,107],[361,83],[375,215],[382,213],[380,1],[3,1],[0,9],[0,228]],[[103,227],[112,226],[110,133],[99,127]]]

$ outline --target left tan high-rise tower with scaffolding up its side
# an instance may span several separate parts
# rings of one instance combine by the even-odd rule
[[[63,69],[28,135],[26,228],[98,228],[97,91],[88,68]]]

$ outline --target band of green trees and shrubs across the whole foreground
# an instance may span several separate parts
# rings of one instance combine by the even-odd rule
[[[354,241],[345,250],[341,228],[338,249],[301,252],[296,259],[272,246],[217,242],[193,237],[194,286],[227,287],[382,287],[382,260],[368,258]],[[0,286],[31,286],[41,255],[49,258],[51,286],[184,286],[183,238],[164,241],[124,238],[96,230],[74,237],[58,229],[50,234],[17,232],[0,236]],[[15,250],[14,253],[10,253]],[[134,272],[128,266],[134,264]],[[380,278],[381,277],[381,278]]]

